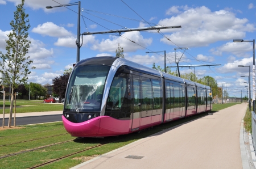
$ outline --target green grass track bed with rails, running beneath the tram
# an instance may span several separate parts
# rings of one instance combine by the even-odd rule
[[[32,104],[32,103],[31,103]],[[38,104],[38,103],[35,103]],[[54,104],[48,104],[54,105]],[[234,104],[214,104],[213,111],[218,111],[220,109],[230,107]],[[0,168],[31,168],[38,164],[48,162],[49,160],[63,157],[64,155],[68,155],[74,153],[79,150],[87,149],[88,147],[92,147],[98,145],[100,143],[110,142],[112,140],[118,139],[118,141],[108,143],[104,146],[97,147],[95,149],[91,149],[89,151],[85,151],[83,153],[79,153],[76,155],[72,155],[71,157],[59,160],[54,163],[50,163],[46,166],[40,168],[71,168],[80,164],[86,160],[89,160],[93,157],[97,157],[98,155],[108,153],[114,149],[125,146],[131,142],[137,141],[141,138],[150,136],[154,133],[163,131],[164,129],[171,128],[173,126],[182,124],[184,122],[189,122],[194,119],[207,116],[207,113],[200,113],[199,115],[195,115],[189,117],[187,119],[180,119],[172,122],[168,122],[166,124],[161,124],[158,126],[154,126],[151,130],[145,130],[141,133],[131,133],[125,136],[119,137],[106,137],[104,139],[101,138],[81,138],[75,139],[76,137],[71,137],[64,129],[62,122],[53,122],[49,124],[38,124],[38,125],[26,125],[23,126],[22,129],[10,129],[10,130],[2,130],[0,131],[0,157],[8,154],[12,154],[18,151],[35,149],[36,147],[41,147],[45,145],[55,144],[51,147],[45,147],[43,149],[38,149],[35,151],[29,151],[23,154],[14,155],[7,158],[0,159]],[[57,134],[62,134],[56,137]],[[38,139],[42,137],[42,140],[28,141],[33,139]],[[62,144],[56,144],[61,141],[68,141]],[[10,143],[28,141],[13,145],[2,146]]]

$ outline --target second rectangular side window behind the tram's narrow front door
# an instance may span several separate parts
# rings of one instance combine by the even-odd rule
[[[162,92],[161,82],[155,79],[151,79],[153,87],[153,109],[162,108]]]

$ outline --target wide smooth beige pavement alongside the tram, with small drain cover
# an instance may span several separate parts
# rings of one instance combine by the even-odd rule
[[[250,168],[237,104],[82,163],[75,168]],[[242,133],[243,134],[243,133]],[[240,148],[241,147],[241,148]],[[141,159],[126,158],[129,155]]]

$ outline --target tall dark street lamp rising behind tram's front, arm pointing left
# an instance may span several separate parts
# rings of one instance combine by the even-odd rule
[[[59,5],[59,6],[47,6],[47,9],[52,9],[53,7],[63,7],[63,6],[73,6],[73,5],[78,5],[78,18],[77,18],[77,39],[76,39],[76,62],[80,61],[80,1],[79,2],[74,2],[74,3],[68,3],[64,5]]]

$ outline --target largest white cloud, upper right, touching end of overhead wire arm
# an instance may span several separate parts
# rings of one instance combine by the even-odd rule
[[[159,24],[170,26],[171,23],[171,26],[181,26],[182,28],[164,29],[162,32],[174,32],[166,36],[182,47],[201,47],[216,41],[239,39],[245,37],[246,32],[256,30],[254,24],[248,23],[248,19],[236,18],[236,14],[230,11],[210,11],[205,6],[174,7],[174,9],[178,8],[183,12],[171,18],[162,19]],[[164,37],[161,41],[174,45]]]

